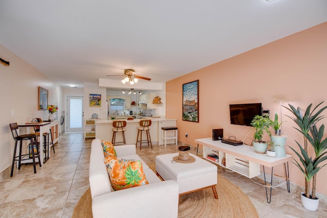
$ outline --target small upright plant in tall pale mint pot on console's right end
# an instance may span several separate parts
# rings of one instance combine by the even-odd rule
[[[274,143],[276,156],[278,157],[286,157],[285,151],[285,143],[286,143],[286,135],[282,135],[281,125],[283,122],[278,123],[278,113],[275,111],[275,119],[270,120],[270,126],[275,130],[275,135],[270,136],[270,140]]]

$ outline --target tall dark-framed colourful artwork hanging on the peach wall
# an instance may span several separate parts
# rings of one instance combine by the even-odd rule
[[[183,120],[199,123],[199,80],[183,84]]]

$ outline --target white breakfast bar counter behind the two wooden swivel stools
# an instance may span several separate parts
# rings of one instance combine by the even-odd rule
[[[144,119],[144,118],[142,118]],[[135,144],[136,136],[137,136],[137,127],[139,127],[139,121],[142,119],[133,119],[126,120],[126,144]],[[152,118],[151,119],[151,127],[150,127],[150,135],[152,144],[162,144],[161,140],[161,127],[176,127],[176,119],[167,119],[167,118]],[[112,122],[118,119],[99,119],[96,120],[96,138],[111,141],[112,139]],[[145,134],[145,133],[144,133]],[[145,136],[146,138],[146,136]],[[118,133],[116,135],[116,141],[123,141],[122,134]]]

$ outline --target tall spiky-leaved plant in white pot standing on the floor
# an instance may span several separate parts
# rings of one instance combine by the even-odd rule
[[[324,118],[320,116],[321,112],[327,108],[327,106],[321,108],[316,113],[314,111],[322,104],[318,104],[312,111],[310,104],[305,113],[303,114],[301,109],[298,107],[295,109],[289,104],[290,108],[287,108],[293,113],[295,117],[290,117],[298,126],[294,127],[303,135],[303,148],[300,143],[296,141],[297,146],[300,149],[300,153],[295,149],[291,148],[296,154],[299,160],[294,159],[295,165],[300,169],[300,171],[305,176],[305,192],[301,193],[302,205],[306,209],[315,211],[319,205],[319,198],[316,197],[316,176],[318,171],[325,166],[318,166],[323,161],[327,160],[327,137],[322,139],[324,134],[324,125],[321,125],[319,130],[316,127],[316,123]],[[310,157],[308,154],[308,141],[315,151],[315,156]],[[310,193],[310,182],[312,180],[312,190]]]

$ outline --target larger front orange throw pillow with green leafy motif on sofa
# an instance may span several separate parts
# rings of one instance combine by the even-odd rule
[[[141,160],[115,159],[108,156],[105,164],[111,186],[115,191],[149,184]]]

